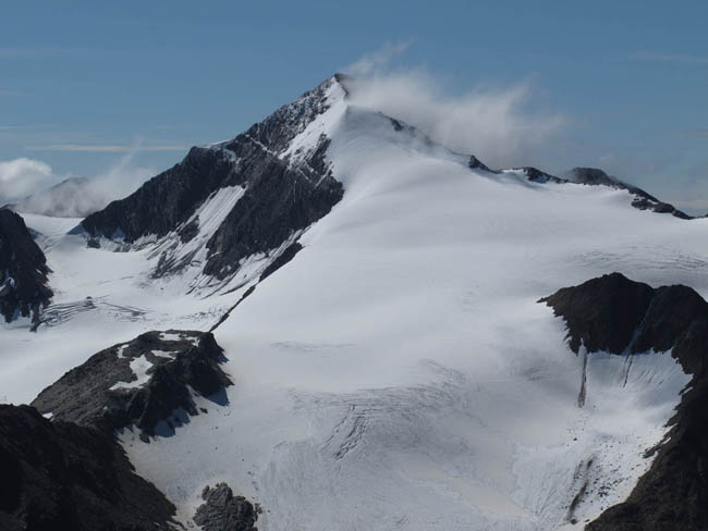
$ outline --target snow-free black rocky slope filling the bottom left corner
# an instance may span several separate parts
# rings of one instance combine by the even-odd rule
[[[91,428],[0,405],[0,529],[161,531],[174,506]]]

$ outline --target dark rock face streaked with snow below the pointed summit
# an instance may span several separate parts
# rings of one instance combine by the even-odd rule
[[[337,76],[328,79],[233,140],[192,148],[182,162],[133,195],[86,218],[84,230],[94,237],[127,243],[176,231],[184,243],[198,232],[198,221],[186,225],[195,210],[217,190],[241,186],[243,197],[206,244],[204,272],[224,279],[237,270],[241,259],[278,248],[326,215],[343,196],[326,160],[327,137],[305,152],[286,153],[293,138],[327,111],[328,90],[338,83]],[[166,256],[161,272],[182,266],[171,264]]]

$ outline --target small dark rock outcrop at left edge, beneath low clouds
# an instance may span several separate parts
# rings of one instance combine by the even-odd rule
[[[53,295],[47,286],[47,259],[24,220],[0,209],[0,313],[7,322],[19,316],[39,320]]]

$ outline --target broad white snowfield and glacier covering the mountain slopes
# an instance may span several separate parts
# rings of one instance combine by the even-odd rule
[[[473,171],[337,85],[329,98],[288,156],[327,135],[344,198],[216,329],[228,404],[199,398],[208,413],[149,444],[121,434],[137,471],[185,521],[205,485],[227,481],[263,505],[268,531],[582,529],[648,469],[691,376],[668,353],[637,356],[628,374],[624,358],[593,354],[579,407],[583,356],[537,300],[612,271],[708,297],[708,220]],[[242,194],[205,202],[204,234],[178,256],[204,260],[197,243]],[[54,318],[0,331],[0,395],[14,403],[141,332],[209,330],[264,263],[229,286],[197,269],[152,279],[166,240],[112,252],[65,234],[78,220],[25,219],[45,235]]]

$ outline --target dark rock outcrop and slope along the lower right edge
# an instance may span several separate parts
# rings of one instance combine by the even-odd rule
[[[693,374],[656,458],[630,497],[590,531],[708,529],[708,302],[686,286],[651,288],[619,273],[541,299],[567,325],[570,346],[634,355],[671,350]]]

